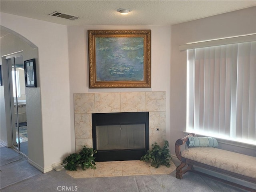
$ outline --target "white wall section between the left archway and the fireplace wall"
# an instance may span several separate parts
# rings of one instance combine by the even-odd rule
[[[70,154],[72,146],[67,27],[6,13],[1,13],[1,25],[38,47],[41,92],[38,101],[41,99],[42,106],[42,135],[38,132],[38,137],[43,138],[43,171],[47,172],[53,163]],[[36,142],[36,138],[28,139],[29,145],[32,140]]]

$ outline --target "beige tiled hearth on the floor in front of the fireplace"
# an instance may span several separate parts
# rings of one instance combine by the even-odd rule
[[[171,161],[170,168],[159,166],[158,168],[149,166],[149,163],[134,161],[112,161],[112,162],[96,162],[96,169],[77,171],[66,171],[67,174],[74,178],[94,178],[94,177],[117,177],[117,176],[134,176],[134,175],[159,175],[170,174],[176,169]]]

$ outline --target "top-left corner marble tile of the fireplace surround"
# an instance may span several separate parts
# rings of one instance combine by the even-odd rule
[[[94,93],[75,93],[74,112],[95,113]]]

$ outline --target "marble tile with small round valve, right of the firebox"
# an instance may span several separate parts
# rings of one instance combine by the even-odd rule
[[[165,135],[165,111],[149,112],[149,136]]]

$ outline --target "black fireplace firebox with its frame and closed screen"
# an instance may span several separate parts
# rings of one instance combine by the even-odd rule
[[[148,112],[92,114],[95,161],[140,160],[149,149]]]

